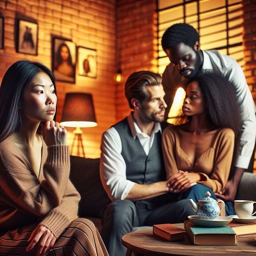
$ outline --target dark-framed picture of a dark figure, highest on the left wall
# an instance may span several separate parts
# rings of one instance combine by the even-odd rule
[[[38,24],[34,22],[18,20],[17,52],[37,55],[38,48]]]

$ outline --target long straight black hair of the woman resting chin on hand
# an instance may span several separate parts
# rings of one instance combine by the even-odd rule
[[[0,87],[0,142],[21,129],[22,117],[19,107],[23,103],[23,91],[40,72],[50,77],[56,89],[53,72],[42,63],[20,60],[6,71]]]

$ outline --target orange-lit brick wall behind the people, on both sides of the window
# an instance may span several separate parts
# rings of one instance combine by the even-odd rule
[[[97,49],[97,78],[76,76],[76,84],[58,82],[60,120],[66,92],[92,93],[98,126],[83,129],[86,157],[99,157],[101,134],[125,117],[130,108],[124,81],[134,71],[157,72],[157,14],[155,0],[0,0],[5,17],[5,49],[0,49],[0,80],[6,69],[21,58],[37,59],[51,67],[51,35],[68,38],[77,46]],[[245,76],[256,101],[256,0],[243,0]],[[116,12],[115,12],[116,10]],[[23,14],[38,21],[38,56],[15,51],[15,19]],[[116,21],[116,22],[115,22]],[[117,52],[115,53],[115,44]],[[123,80],[112,78],[121,63]],[[104,97],[102,97],[104,95]],[[72,129],[69,129],[71,132]],[[73,135],[69,133],[71,145]],[[256,167],[256,163],[254,165]]]

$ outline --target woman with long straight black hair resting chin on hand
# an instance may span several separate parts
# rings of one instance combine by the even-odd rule
[[[55,122],[55,77],[18,61],[0,87],[0,254],[107,255],[94,224],[78,218],[67,131]]]

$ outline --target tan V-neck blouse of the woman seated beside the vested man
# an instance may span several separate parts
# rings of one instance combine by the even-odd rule
[[[167,179],[182,170],[203,175],[205,180],[198,183],[213,192],[219,192],[225,186],[232,162],[234,132],[221,128],[209,133],[213,133],[211,147],[191,163],[180,146],[181,138],[185,139],[190,133],[179,126],[169,126],[164,130],[162,146]]]

